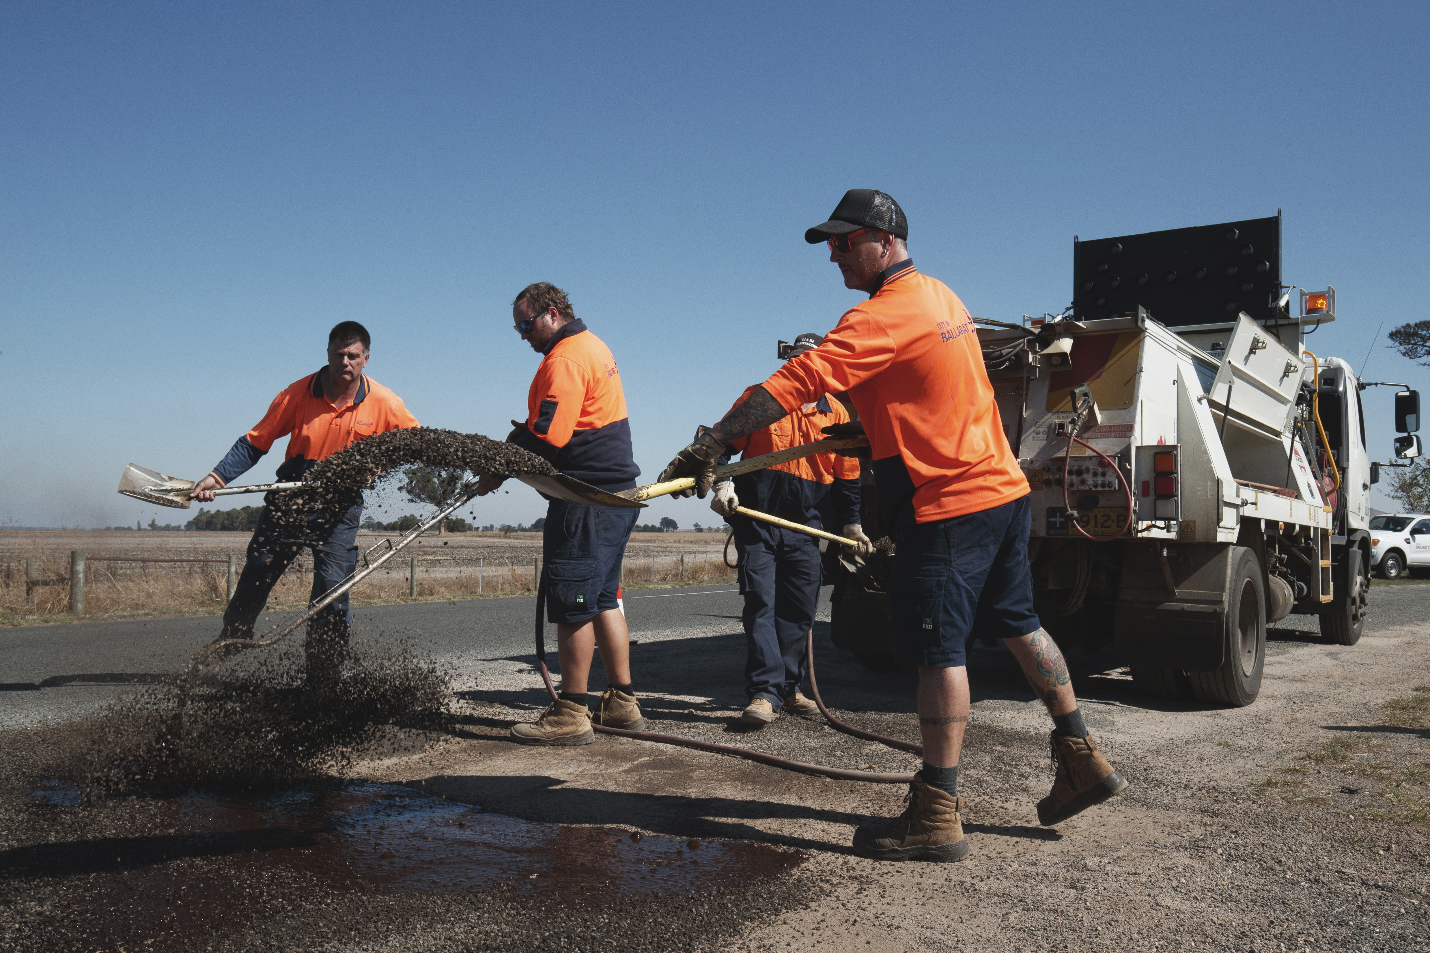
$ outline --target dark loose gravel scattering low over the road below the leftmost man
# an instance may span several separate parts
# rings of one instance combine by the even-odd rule
[[[302,687],[302,649],[255,653],[222,679],[176,677],[87,723],[51,777],[87,797],[200,787],[253,790],[342,772],[388,726],[445,732],[448,674],[405,646],[355,653],[336,689]]]

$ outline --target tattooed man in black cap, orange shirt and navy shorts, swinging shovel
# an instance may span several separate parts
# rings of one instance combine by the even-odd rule
[[[892,529],[889,609],[897,657],[918,666],[924,766],[908,809],[859,827],[855,853],[882,860],[962,860],[958,759],[968,724],[965,643],[1004,640],[1052,716],[1058,763],[1038,820],[1055,824],[1127,786],[1098,753],[1062,653],[1032,610],[1028,483],[1008,447],[968,309],[908,256],[908,220],[892,197],[852,189],[829,220],[805,231],[827,243],[844,286],[869,300],[849,309],[814,350],[791,360],[712,429],[701,427],[661,480],[694,476],[701,496],[739,437],[825,393],[848,393],[864,433],[879,514]]]

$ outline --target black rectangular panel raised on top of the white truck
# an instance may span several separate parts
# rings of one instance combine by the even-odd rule
[[[1274,317],[1281,217],[1072,243],[1072,311],[1121,317],[1137,306],[1168,327]]]

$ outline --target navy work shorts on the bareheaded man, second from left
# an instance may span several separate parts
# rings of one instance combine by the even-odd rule
[[[542,527],[546,619],[578,623],[616,607],[621,557],[641,510],[552,500]]]

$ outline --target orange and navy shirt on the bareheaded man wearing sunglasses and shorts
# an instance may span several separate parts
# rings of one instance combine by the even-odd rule
[[[526,393],[526,423],[508,439],[602,490],[635,487],[641,467],[631,449],[621,371],[581,319],[562,324],[546,344]]]

